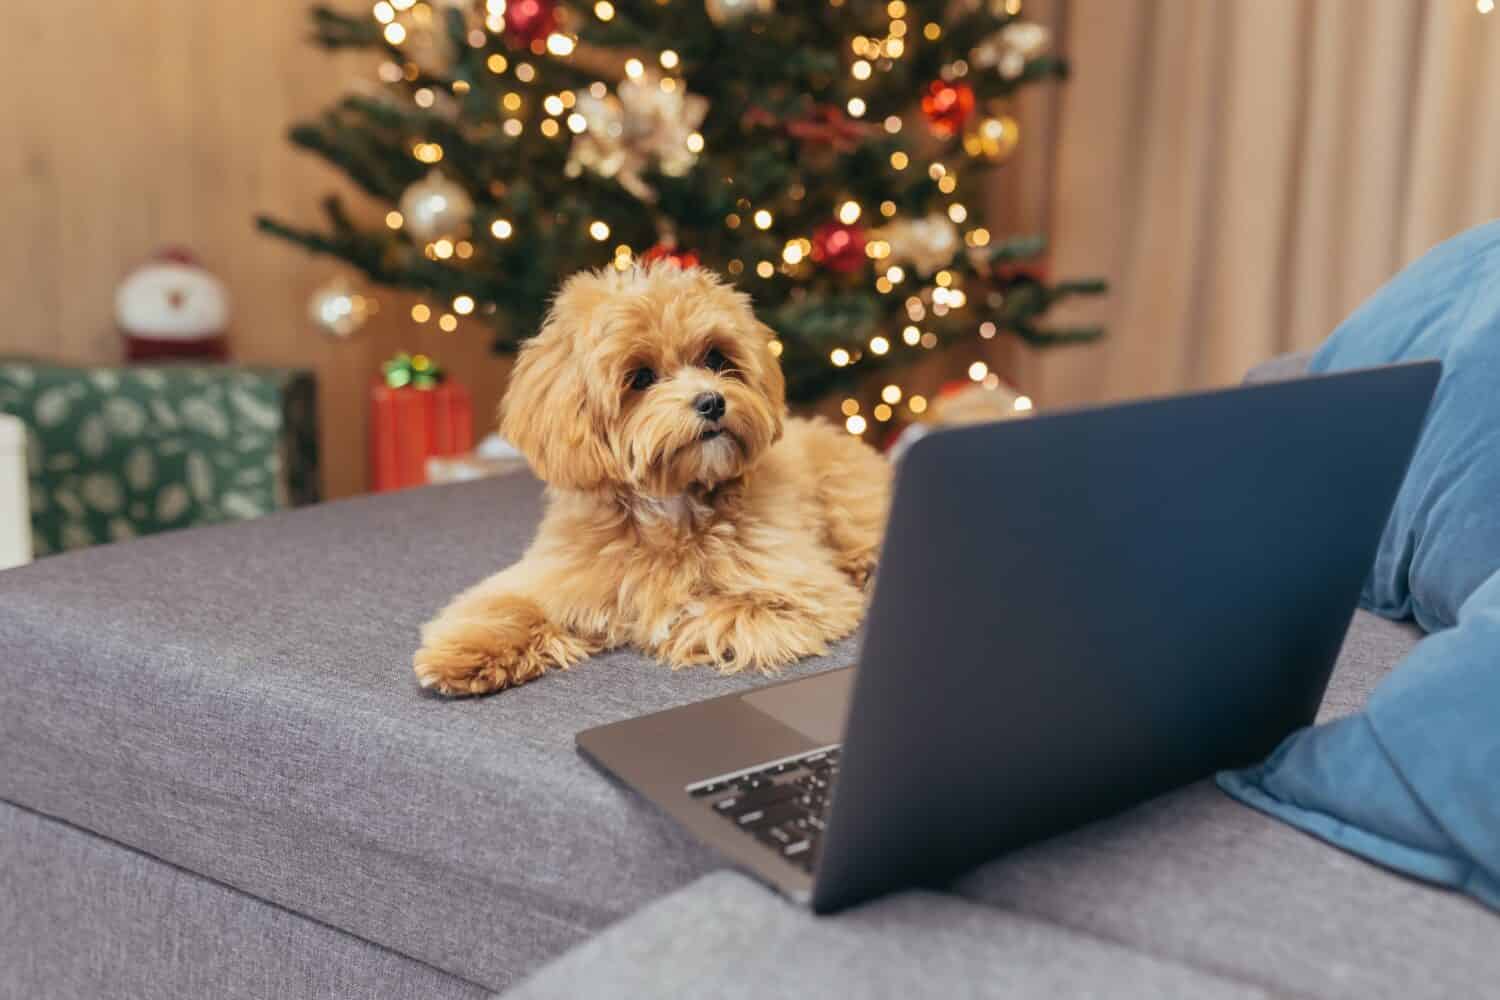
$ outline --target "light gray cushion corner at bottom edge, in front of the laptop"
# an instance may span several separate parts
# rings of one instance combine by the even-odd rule
[[[1262,997],[1220,976],[950,895],[814,918],[720,873],[548,966],[508,1000],[576,997]]]

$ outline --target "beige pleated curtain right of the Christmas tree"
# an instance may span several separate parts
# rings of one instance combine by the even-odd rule
[[[1474,0],[1072,0],[1050,231],[1104,343],[1044,403],[1228,384],[1500,216],[1500,12]]]

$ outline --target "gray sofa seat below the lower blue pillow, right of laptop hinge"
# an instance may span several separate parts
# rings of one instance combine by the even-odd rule
[[[1464,997],[1500,982],[1500,921],[1208,783],[994,861],[963,897],[1274,993]]]

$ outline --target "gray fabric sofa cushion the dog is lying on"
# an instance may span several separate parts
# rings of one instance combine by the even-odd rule
[[[423,693],[418,625],[538,502],[504,477],[0,573],[0,799],[504,987],[718,865],[573,735],[762,681],[616,652]]]

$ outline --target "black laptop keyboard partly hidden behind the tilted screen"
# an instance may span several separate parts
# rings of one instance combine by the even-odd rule
[[[837,777],[838,747],[824,747],[801,757],[694,781],[687,793],[747,837],[812,873]]]

